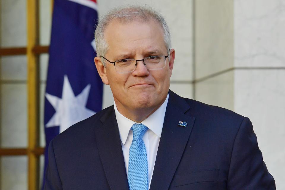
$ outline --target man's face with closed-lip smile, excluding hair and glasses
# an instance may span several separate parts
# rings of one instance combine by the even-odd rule
[[[109,61],[167,56],[168,52],[163,30],[153,20],[125,24],[114,20],[105,29],[105,40],[108,51],[104,57]],[[170,85],[174,55],[174,50],[170,50],[170,61],[166,58],[163,69],[148,70],[143,61],[138,61],[136,69],[129,73],[117,73],[114,64],[105,60],[106,67],[100,76],[105,84],[110,85],[120,112],[156,110],[162,105]]]

